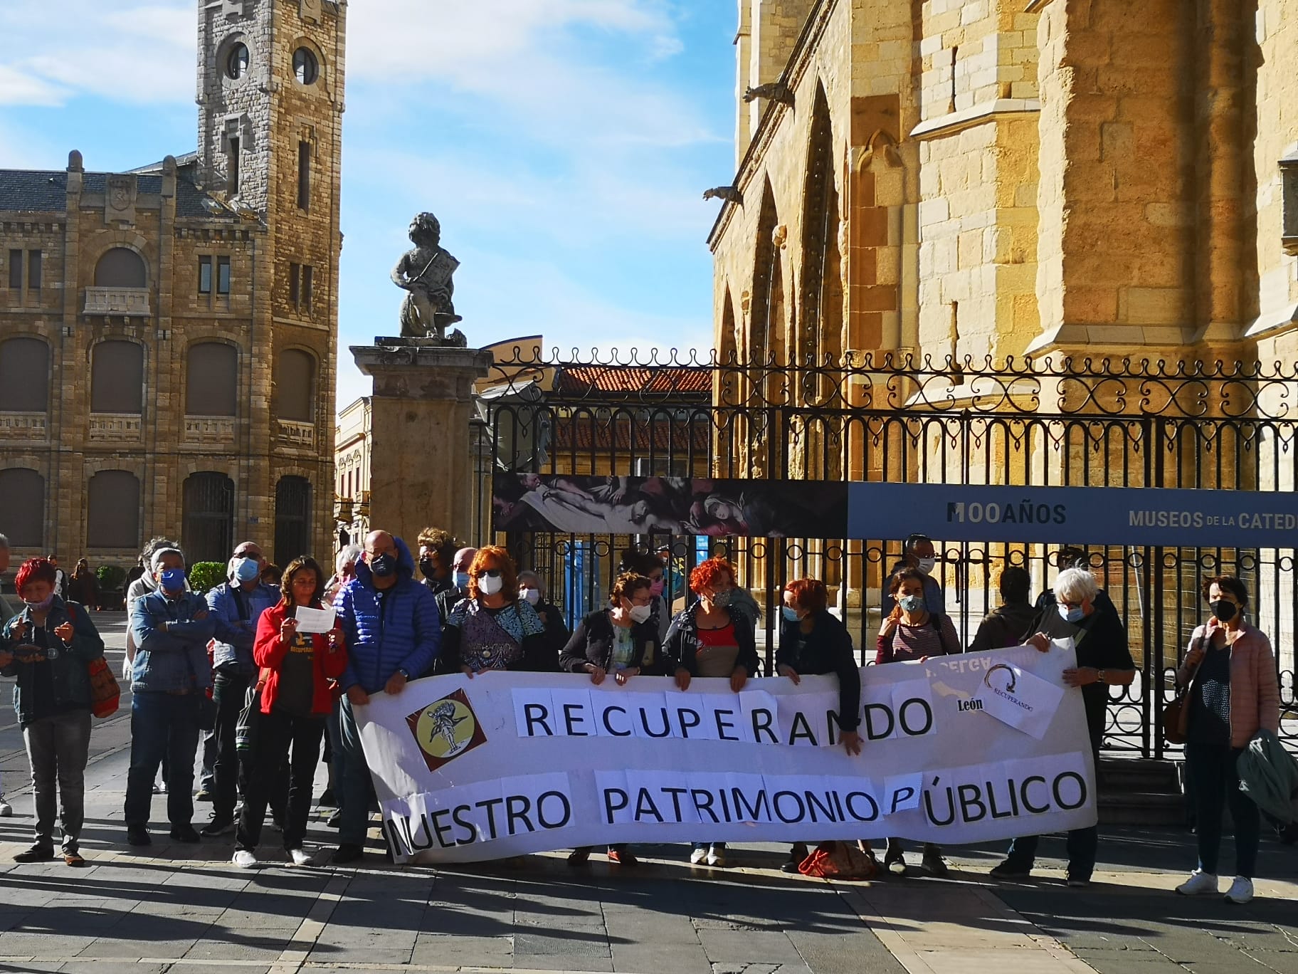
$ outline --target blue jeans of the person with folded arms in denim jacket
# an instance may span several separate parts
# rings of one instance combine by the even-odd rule
[[[193,819],[193,756],[199,748],[196,693],[139,691],[131,697],[131,768],[126,773],[126,827],[149,823],[153,778],[166,758],[166,817]]]

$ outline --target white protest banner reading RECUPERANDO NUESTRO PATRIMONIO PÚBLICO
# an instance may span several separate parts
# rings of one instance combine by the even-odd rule
[[[356,709],[397,861],[618,842],[986,842],[1096,823],[1072,647],[862,673],[862,753],[832,677],[432,677]]]

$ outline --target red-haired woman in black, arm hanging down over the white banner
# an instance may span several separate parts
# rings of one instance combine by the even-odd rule
[[[861,753],[861,670],[851,634],[829,612],[829,591],[815,578],[798,578],[784,586],[780,606],[780,648],[775,651],[775,671],[794,684],[803,677],[835,674],[839,678],[839,742],[851,756]],[[797,873],[807,857],[806,843],[794,843],[789,858],[780,866]]]

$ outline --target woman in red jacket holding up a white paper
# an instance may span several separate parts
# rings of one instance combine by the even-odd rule
[[[261,666],[261,714],[257,736],[248,761],[248,791],[239,831],[234,864],[243,869],[257,865],[254,855],[261,842],[266,818],[266,801],[275,786],[275,777],[289,744],[293,749],[288,783],[288,812],[284,816],[284,851],[295,866],[309,865],[312,857],[302,849],[306,817],[312,810],[312,786],[319,760],[324,721],[334,704],[330,681],[343,675],[347,652],[343,632],[299,632],[299,606],[321,609],[324,573],[314,558],[295,558],[284,571],[280,590],[284,597],[266,609],[257,622],[257,640],[252,655]]]

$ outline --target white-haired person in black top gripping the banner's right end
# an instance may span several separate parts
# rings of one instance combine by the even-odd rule
[[[1028,642],[1046,653],[1055,639],[1073,640],[1077,665],[1063,671],[1063,682],[1081,690],[1090,751],[1098,765],[1108,709],[1108,687],[1125,687],[1136,679],[1136,662],[1118,613],[1098,604],[1099,586],[1094,575],[1081,568],[1060,571],[1054,593],[1054,609],[1042,614],[1037,621],[1037,634]],[[992,875],[997,879],[1028,875],[1036,862],[1037,843],[1036,835],[1015,839],[1005,862],[996,866]],[[1096,826],[1068,832],[1068,886],[1090,884],[1098,844],[1099,830]]]

